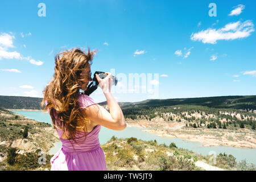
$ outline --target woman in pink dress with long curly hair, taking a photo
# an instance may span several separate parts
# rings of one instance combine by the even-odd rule
[[[51,158],[51,170],[106,170],[105,155],[98,140],[101,126],[112,130],[126,128],[122,110],[110,92],[111,73],[106,73],[104,79],[96,75],[110,113],[79,92],[86,90],[92,81],[90,63],[94,54],[75,48],[55,57],[55,73],[42,101],[62,142],[60,150]]]

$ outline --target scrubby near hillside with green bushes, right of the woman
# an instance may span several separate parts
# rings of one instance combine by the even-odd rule
[[[107,169],[143,171],[195,171],[195,170],[256,170],[246,161],[237,162],[232,155],[204,156],[176,147],[158,144],[156,140],[144,141],[137,138],[112,137],[102,145]]]

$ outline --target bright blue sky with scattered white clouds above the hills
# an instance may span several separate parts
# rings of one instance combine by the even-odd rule
[[[46,16],[38,16],[39,3]],[[217,16],[209,16],[209,3]],[[1,1],[0,95],[42,97],[56,53],[88,46],[98,49],[93,73],[152,74],[146,93],[127,86],[127,93],[113,93],[117,101],[255,95],[255,7],[255,1]],[[100,89],[91,97],[105,101]]]

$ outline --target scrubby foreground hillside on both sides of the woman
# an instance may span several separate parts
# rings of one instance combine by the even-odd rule
[[[24,137],[26,127],[28,135]],[[40,164],[39,151],[47,152],[57,140],[48,123],[0,109],[0,171],[49,170],[52,155],[46,154],[46,163]],[[232,155],[204,156],[178,148],[175,143],[166,146],[156,140],[118,139],[113,136],[101,147],[108,170],[256,170],[254,164],[237,162]]]

